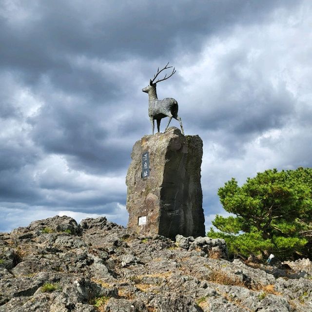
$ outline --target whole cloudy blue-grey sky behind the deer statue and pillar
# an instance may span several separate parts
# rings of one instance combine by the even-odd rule
[[[231,177],[312,167],[311,29],[310,0],[1,0],[0,232],[126,225],[132,146],[151,133],[141,89],[168,61],[157,93],[203,139],[207,230]]]

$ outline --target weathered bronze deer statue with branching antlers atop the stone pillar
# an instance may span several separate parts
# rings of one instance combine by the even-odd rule
[[[156,82],[154,82],[155,79],[157,78],[157,76],[163,70],[168,69],[168,68],[172,68],[172,66],[168,66],[168,65],[169,65],[169,62],[161,70],[159,70],[159,67],[158,67],[157,73],[154,75],[153,80],[150,79],[150,84],[147,87],[143,88],[142,91],[148,94],[148,116],[150,117],[150,120],[152,123],[153,135],[154,135],[154,121],[155,121],[155,119],[157,121],[157,130],[159,132],[160,121],[162,118],[165,118],[165,117],[169,117],[169,121],[168,121],[167,127],[165,129],[165,132],[168,129],[168,126],[169,126],[171,119],[175,118],[176,120],[179,121],[180,127],[181,127],[181,132],[184,135],[182,120],[180,117],[177,116],[177,111],[178,111],[177,101],[174,98],[164,98],[164,99],[158,99],[157,98],[156,83],[163,81],[163,80],[166,80],[176,73],[176,70],[174,68],[170,76],[167,77],[167,74],[166,74],[164,78],[158,79]]]

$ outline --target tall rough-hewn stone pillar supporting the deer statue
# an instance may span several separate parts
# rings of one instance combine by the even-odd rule
[[[200,166],[202,140],[166,133],[144,136],[133,146],[126,184],[128,228],[138,234],[174,238],[204,236]],[[142,177],[142,155],[149,153],[149,176]]]

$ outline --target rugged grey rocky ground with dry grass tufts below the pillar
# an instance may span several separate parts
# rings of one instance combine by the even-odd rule
[[[222,257],[220,239],[138,237],[103,217],[39,220],[0,234],[0,312],[312,311],[301,262],[286,271]]]

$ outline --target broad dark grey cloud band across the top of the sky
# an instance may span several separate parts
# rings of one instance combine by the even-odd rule
[[[68,59],[166,59],[176,49],[199,51],[203,36],[228,31],[233,24],[256,23],[274,8],[293,1],[31,1],[2,18],[0,64],[26,71],[30,83],[48,75],[58,85],[81,90],[79,69]],[[26,13],[27,14],[26,14]],[[26,14],[22,20],[18,15]],[[14,16],[17,15],[17,16]],[[72,77],[71,75],[72,74]],[[94,75],[94,74],[93,74]],[[94,75],[95,76],[95,75]],[[64,78],[63,78],[64,77]],[[96,77],[93,85],[103,85]],[[102,83],[101,83],[102,82]],[[71,85],[72,83],[72,85]],[[113,87],[113,86],[111,86]],[[102,94],[105,94],[103,91]]]

